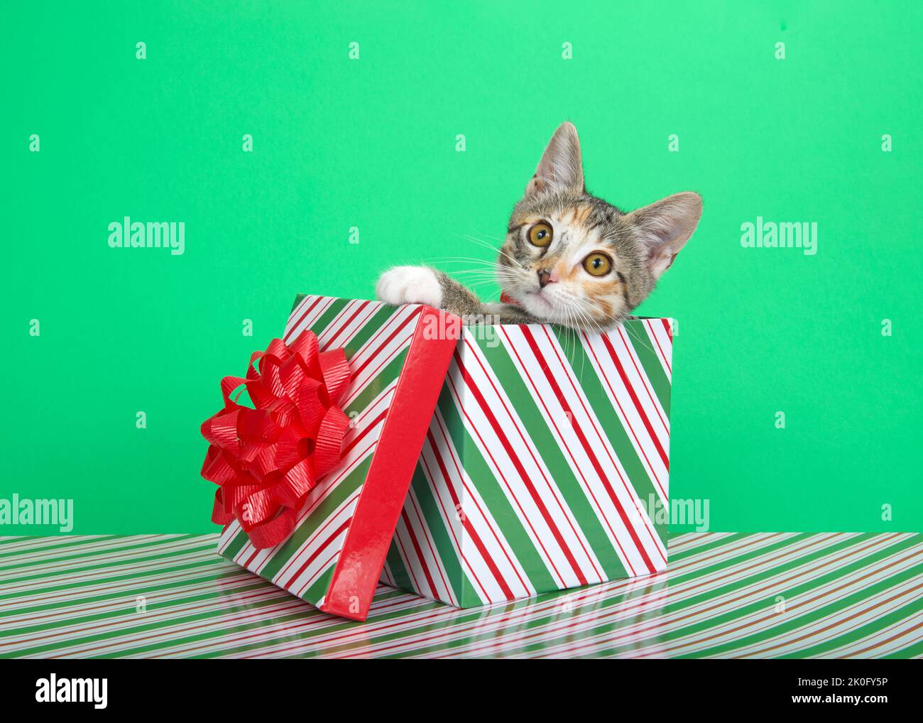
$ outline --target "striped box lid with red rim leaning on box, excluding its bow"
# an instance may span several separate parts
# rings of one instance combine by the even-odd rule
[[[352,373],[340,400],[351,420],[342,461],[308,492],[280,544],[256,548],[234,520],[219,552],[319,609],[365,620],[461,319],[420,305],[299,295],[283,341],[306,330],[321,351],[343,348]]]

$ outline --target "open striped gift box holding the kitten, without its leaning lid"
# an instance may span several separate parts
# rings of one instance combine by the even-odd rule
[[[468,608],[665,569],[671,329],[465,327],[382,581]]]

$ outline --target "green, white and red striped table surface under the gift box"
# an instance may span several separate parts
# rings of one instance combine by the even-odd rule
[[[0,538],[0,657],[921,657],[923,535],[673,536],[649,577],[345,621],[214,535]]]

